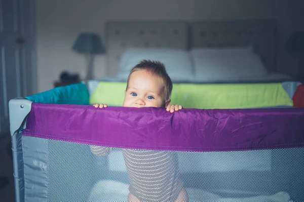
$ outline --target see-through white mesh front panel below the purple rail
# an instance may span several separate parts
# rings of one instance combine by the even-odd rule
[[[155,177],[156,180],[161,179],[160,182],[164,179],[173,182],[164,186],[164,189],[168,188],[171,192],[180,190],[178,187],[181,185],[174,183],[180,180],[189,201],[193,202],[304,201],[304,148],[226,152],[168,151],[172,154],[171,157],[176,158],[159,161],[157,164],[153,163],[154,159],[165,159],[166,156],[161,154],[167,151],[129,151],[112,148],[108,155],[97,156],[91,152],[89,145],[49,140],[50,201],[127,201],[129,190],[134,191],[129,186],[131,182],[134,185],[131,187],[135,187],[133,189],[146,188],[146,184],[142,187],[138,185],[142,176],[148,180]],[[140,152],[146,156],[137,156]],[[125,162],[129,165],[126,166]],[[130,168],[134,167],[137,172],[131,173]],[[165,173],[162,172],[164,170],[151,169],[161,167],[170,173],[159,178]],[[175,171],[177,175],[174,174]],[[157,189],[150,185],[147,187],[151,192],[154,188]],[[136,191],[134,192],[138,194]],[[165,192],[162,192],[163,196]],[[152,201],[144,194],[140,197],[147,198],[141,202]]]

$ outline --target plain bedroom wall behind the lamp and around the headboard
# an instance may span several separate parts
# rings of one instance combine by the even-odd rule
[[[37,75],[39,92],[53,88],[63,70],[85,76],[85,58],[72,52],[79,32],[104,37],[109,20],[277,19],[278,70],[296,76],[294,57],[283,47],[294,30],[304,30],[301,0],[39,0],[37,1]],[[104,41],[103,41],[104,42]],[[105,42],[104,42],[105,43]],[[95,77],[105,75],[105,56],[95,57]]]

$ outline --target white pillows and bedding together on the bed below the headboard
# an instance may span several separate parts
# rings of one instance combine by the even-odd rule
[[[286,74],[270,73],[252,47],[196,48],[190,51],[169,48],[131,48],[122,56],[120,71],[111,78],[125,82],[132,67],[143,59],[159,60],[173,83],[284,82]]]

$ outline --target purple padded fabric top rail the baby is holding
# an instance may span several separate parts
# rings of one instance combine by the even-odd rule
[[[120,148],[232,151],[304,147],[304,109],[95,108],[32,103],[23,135]]]

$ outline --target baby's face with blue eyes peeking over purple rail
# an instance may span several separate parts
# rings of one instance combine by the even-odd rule
[[[163,80],[146,70],[134,71],[125,91],[124,107],[165,107]]]

